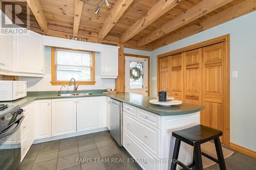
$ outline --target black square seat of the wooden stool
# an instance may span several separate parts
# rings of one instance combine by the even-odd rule
[[[174,131],[173,136],[195,146],[222,136],[222,131],[204,125],[196,125],[184,130]]]

